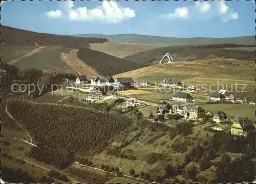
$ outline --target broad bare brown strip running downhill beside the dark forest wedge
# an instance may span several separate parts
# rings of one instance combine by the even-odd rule
[[[72,49],[69,54],[62,52],[61,59],[79,75],[87,75],[87,77],[92,77],[94,75],[101,76],[94,68],[77,58],[77,51],[78,50],[76,49]]]

